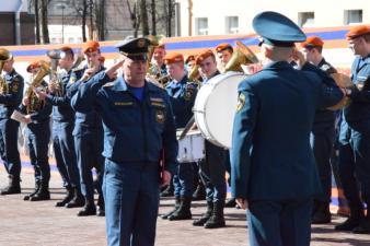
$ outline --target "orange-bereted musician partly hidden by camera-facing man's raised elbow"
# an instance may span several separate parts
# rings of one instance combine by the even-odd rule
[[[85,56],[88,65],[82,69],[76,69],[72,71],[68,85],[68,96],[71,98],[86,81],[91,80],[94,74],[104,70],[99,60],[101,57],[100,45],[97,42],[88,42],[82,47],[82,52]],[[96,206],[94,203],[94,181],[92,175],[92,168],[94,167],[97,173],[97,215],[104,215],[104,199],[102,192],[103,173],[104,173],[104,159],[102,156],[103,151],[103,127],[102,118],[100,115],[91,108],[89,112],[80,112],[76,108],[74,119],[74,147],[78,160],[78,166],[80,171],[81,191],[84,200],[79,192],[67,204],[67,208],[83,207],[78,212],[78,216],[95,215]]]

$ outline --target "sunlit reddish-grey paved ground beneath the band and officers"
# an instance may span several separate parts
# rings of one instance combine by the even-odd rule
[[[23,196],[33,189],[33,173],[22,171],[22,195],[0,196],[0,246],[104,246],[104,219],[97,216],[78,218],[78,209],[55,208],[56,200],[63,196],[60,177],[51,176],[50,201],[23,201]],[[0,186],[7,183],[3,167],[0,167]],[[160,213],[172,208],[172,199],[161,200]],[[198,218],[205,210],[205,202],[195,202],[193,213]],[[247,245],[244,211],[227,209],[227,227],[205,230],[192,226],[192,221],[170,222],[158,220],[158,246],[241,246]],[[370,235],[337,233],[333,226],[344,218],[334,216],[329,225],[314,226],[314,246],[365,246],[370,245]]]

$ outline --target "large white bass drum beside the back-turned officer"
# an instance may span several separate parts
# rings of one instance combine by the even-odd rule
[[[195,98],[195,122],[204,138],[218,147],[231,147],[238,85],[246,77],[240,72],[213,77],[200,87]]]

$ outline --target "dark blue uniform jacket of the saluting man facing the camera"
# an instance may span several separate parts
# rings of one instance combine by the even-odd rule
[[[104,126],[103,155],[116,163],[155,162],[164,149],[166,169],[176,167],[176,129],[170,98],[162,89],[147,83],[138,101],[123,77],[109,81],[105,72],[84,83],[71,104],[84,113],[94,107]]]

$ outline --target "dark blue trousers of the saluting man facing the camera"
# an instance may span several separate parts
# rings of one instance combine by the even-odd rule
[[[108,246],[153,246],[159,164],[105,160],[103,194]]]

